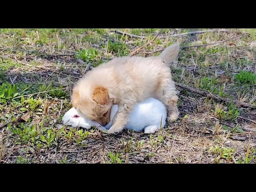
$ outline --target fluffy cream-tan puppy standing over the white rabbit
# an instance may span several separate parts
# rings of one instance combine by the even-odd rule
[[[168,109],[168,121],[176,120],[178,97],[172,81],[170,62],[178,56],[178,43],[159,56],[120,57],[89,71],[74,87],[72,105],[84,117],[104,122],[113,104],[118,112],[108,133],[122,131],[137,102],[153,97]],[[105,124],[102,124],[105,126]]]

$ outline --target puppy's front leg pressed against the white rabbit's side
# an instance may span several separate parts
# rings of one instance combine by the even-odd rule
[[[124,126],[128,122],[130,111],[131,108],[128,107],[126,104],[118,105],[118,112],[114,117],[112,126],[108,130],[108,134],[119,133],[124,129]]]

